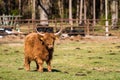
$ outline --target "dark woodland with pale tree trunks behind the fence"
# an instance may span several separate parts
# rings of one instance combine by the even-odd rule
[[[107,2],[109,18],[115,13],[119,18],[120,1]],[[96,19],[105,17],[105,0],[0,0],[0,15],[22,15],[23,18],[32,18],[32,14],[35,13],[35,18],[40,18],[42,13],[39,7],[43,7],[49,19],[69,18],[70,9],[74,19],[80,15],[87,19],[93,19],[94,16]]]

